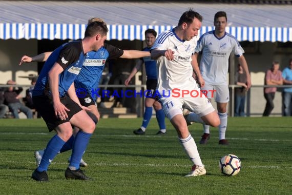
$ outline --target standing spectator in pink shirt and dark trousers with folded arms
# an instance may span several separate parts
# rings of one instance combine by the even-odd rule
[[[265,85],[283,85],[282,72],[279,70],[279,62],[274,61],[272,68],[268,69],[265,74]],[[263,116],[269,116],[274,109],[274,98],[277,87],[265,87],[264,97],[267,101]]]

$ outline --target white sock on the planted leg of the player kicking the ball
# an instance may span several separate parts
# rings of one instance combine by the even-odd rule
[[[187,138],[182,139],[178,138],[179,142],[181,143],[184,151],[187,155],[189,155],[190,160],[194,163],[194,165],[203,165],[200,154],[198,152],[197,145],[195,143],[195,140],[193,139],[192,135],[189,134]]]

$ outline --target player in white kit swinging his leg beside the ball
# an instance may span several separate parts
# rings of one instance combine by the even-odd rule
[[[192,63],[201,21],[202,16],[192,9],[184,12],[178,26],[162,32],[151,49],[151,58],[157,60],[156,93],[160,95],[164,113],[177,131],[179,142],[194,164],[186,177],[204,175],[206,170],[187,129],[182,106],[195,112],[196,122],[214,127],[220,124],[218,114],[206,97],[200,95],[200,89],[192,77],[194,68],[199,83],[204,84],[198,64]]]

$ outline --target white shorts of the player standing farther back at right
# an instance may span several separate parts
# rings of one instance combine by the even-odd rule
[[[228,85],[211,85],[205,84],[201,91],[206,94],[208,99],[215,97],[215,101],[219,103],[229,102],[229,88]]]

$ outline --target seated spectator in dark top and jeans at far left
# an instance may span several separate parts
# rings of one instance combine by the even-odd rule
[[[16,85],[16,82],[9,80],[7,85]],[[20,95],[20,93],[22,91],[22,87],[18,87],[17,89],[13,86],[8,87],[8,90],[4,92],[5,102],[15,119],[19,119],[18,110],[20,112],[24,112],[28,119],[32,119],[31,109],[20,102],[20,99],[22,99],[22,95]]]

